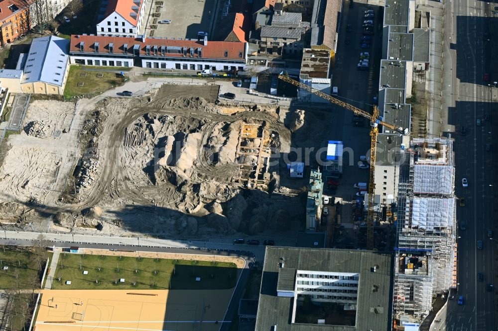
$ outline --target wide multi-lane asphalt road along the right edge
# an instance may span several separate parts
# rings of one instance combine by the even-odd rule
[[[489,33],[485,1],[445,1],[445,38],[451,48],[452,105],[449,124],[455,125],[456,195],[465,198],[466,205],[457,204],[457,221],[465,220],[467,230],[458,231],[458,289],[452,291],[453,300],[438,316],[441,322],[436,330],[496,330],[494,326],[494,297],[486,292],[487,283],[493,283],[493,249],[496,240],[487,238],[493,229],[492,158],[485,150],[491,143],[491,122],[484,120],[491,113],[491,88],[493,79],[485,81],[490,66],[489,48],[485,34]],[[496,81],[496,80],[495,80]],[[482,125],[477,126],[477,120]],[[460,135],[461,128],[466,135]],[[462,178],[469,181],[462,186]],[[484,242],[484,249],[477,249],[477,241]],[[477,273],[484,273],[484,282],[478,282]],[[459,296],[464,304],[458,305]]]

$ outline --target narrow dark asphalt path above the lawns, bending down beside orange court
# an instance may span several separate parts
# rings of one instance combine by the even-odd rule
[[[254,260],[254,254],[250,251],[244,250],[229,250],[229,249],[210,249],[210,248],[172,248],[172,247],[153,247],[153,246],[137,246],[137,245],[114,245],[111,244],[94,244],[94,243],[74,243],[67,241],[49,241],[50,245],[55,247],[71,247],[78,245],[80,248],[97,248],[97,249],[120,249],[120,250],[140,250],[140,251],[153,251],[153,252],[167,252],[167,253],[181,253],[181,254],[209,254],[209,255],[223,255],[223,256],[240,256],[246,260],[246,266],[242,270],[242,274],[237,283],[237,287],[232,295],[232,300],[225,313],[224,321],[231,321],[239,309],[239,302],[244,293],[244,289],[249,279],[249,261]],[[31,246],[31,240],[19,239],[0,239],[0,245],[18,245],[18,246]],[[238,245],[235,248],[245,248],[246,245]],[[220,331],[227,331],[230,328],[230,323],[223,323]]]

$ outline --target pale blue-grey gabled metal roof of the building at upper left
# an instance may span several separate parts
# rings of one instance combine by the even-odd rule
[[[48,36],[33,39],[21,83],[44,82],[62,86],[69,61],[67,39]]]

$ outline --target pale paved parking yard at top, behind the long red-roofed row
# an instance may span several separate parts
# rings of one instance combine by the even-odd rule
[[[195,39],[199,31],[210,33],[217,3],[216,0],[150,1],[145,8],[147,17],[144,33],[147,37],[168,39]],[[159,23],[161,20],[171,22],[161,24]]]

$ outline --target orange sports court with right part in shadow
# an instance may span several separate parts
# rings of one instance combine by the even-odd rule
[[[215,331],[233,290],[42,290],[34,330]]]

